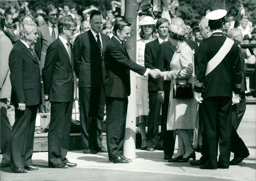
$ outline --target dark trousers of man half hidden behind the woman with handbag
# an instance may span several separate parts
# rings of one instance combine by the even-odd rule
[[[169,93],[170,94],[170,93]],[[164,93],[167,95],[167,93]],[[169,108],[170,97],[164,97],[164,104],[162,106],[162,117],[163,117],[163,127],[164,127],[164,155],[173,155],[176,139],[176,130],[167,131],[167,116]],[[175,132],[175,133],[174,133]]]

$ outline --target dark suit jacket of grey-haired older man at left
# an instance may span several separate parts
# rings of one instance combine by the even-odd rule
[[[9,55],[9,67],[13,105],[16,107],[19,102],[25,102],[26,106],[42,104],[40,63],[21,41],[18,41],[12,48]]]

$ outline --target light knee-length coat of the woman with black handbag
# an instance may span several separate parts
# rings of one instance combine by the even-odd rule
[[[176,50],[171,61],[171,70],[173,71],[173,78],[171,84],[170,103],[167,119],[167,130],[175,129],[193,129],[196,123],[197,103],[193,99],[173,99],[172,85],[176,82],[177,74],[180,72],[179,83],[185,84],[186,79],[195,85],[195,67],[194,55],[191,48],[186,42],[182,43]],[[164,79],[168,80],[170,77],[168,72],[164,72]],[[194,93],[193,93],[194,94]]]

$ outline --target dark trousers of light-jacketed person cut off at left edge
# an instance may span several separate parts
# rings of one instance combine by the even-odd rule
[[[11,124],[7,117],[7,98],[1,99],[0,102],[0,146],[2,153],[2,163],[10,164],[10,147],[11,147]]]

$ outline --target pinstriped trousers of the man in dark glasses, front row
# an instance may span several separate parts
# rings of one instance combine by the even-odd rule
[[[48,165],[67,163],[68,142],[72,117],[72,98],[69,102],[51,102],[51,121],[48,132]]]

